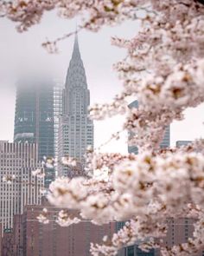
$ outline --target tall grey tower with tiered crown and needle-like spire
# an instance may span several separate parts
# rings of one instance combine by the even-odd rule
[[[88,146],[93,147],[93,122],[88,117],[90,93],[80,57],[77,33],[73,55],[63,90],[63,114],[59,127],[59,158],[70,156],[83,163]],[[59,167],[59,175],[72,176],[67,167]]]

